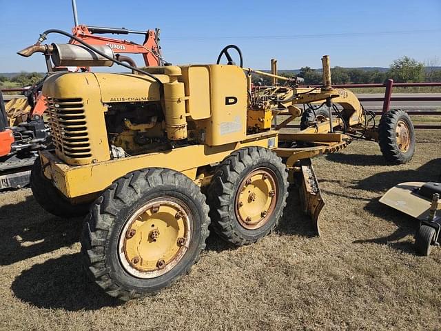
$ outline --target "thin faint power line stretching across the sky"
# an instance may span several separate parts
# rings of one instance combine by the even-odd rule
[[[236,39],[236,40],[262,40],[262,39],[319,39],[319,38],[342,38],[342,37],[367,37],[367,36],[386,36],[396,34],[422,34],[441,32],[441,29],[434,30],[402,30],[402,31],[379,31],[379,32],[342,32],[342,33],[327,33],[327,34],[291,34],[291,35],[269,35],[269,36],[220,36],[220,37],[163,37],[167,40],[213,40],[213,39]]]

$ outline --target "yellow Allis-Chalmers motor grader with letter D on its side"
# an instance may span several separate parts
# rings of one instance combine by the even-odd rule
[[[229,50],[236,46],[224,48],[217,64],[141,70],[115,59],[108,46],[41,45],[50,32],[59,31],[41,34],[25,54],[43,52],[55,66],[119,63],[136,72],[50,75],[43,96],[55,149],[40,152],[31,175],[45,210],[86,215],[81,251],[107,294],[143,297],[188,273],[210,223],[233,245],[269,234],[282,217],[289,183],[319,231],[324,201],[310,158],[347,146],[351,138],[334,132],[338,128],[368,132],[358,99],[332,88],[328,57],[322,88],[298,88],[292,79],[260,90],[252,88],[256,70],[241,68],[242,54],[240,66],[232,61]],[[338,118],[280,132],[305,113],[297,105],[322,103],[328,119],[340,105]],[[274,123],[280,112],[291,115]],[[395,129],[392,135],[397,141]]]

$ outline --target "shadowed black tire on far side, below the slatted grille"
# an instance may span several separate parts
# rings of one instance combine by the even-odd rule
[[[84,216],[89,211],[90,203],[72,205],[65,199],[63,194],[52,185],[51,181],[44,177],[39,157],[37,157],[34,165],[32,165],[30,188],[39,205],[55,216],[68,219]]]

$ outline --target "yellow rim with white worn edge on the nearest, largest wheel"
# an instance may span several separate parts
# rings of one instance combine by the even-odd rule
[[[153,199],[136,210],[119,235],[119,259],[134,277],[159,277],[183,258],[191,240],[192,213],[172,197]]]

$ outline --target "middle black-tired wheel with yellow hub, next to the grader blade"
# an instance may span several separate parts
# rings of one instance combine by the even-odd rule
[[[220,163],[208,192],[212,227],[234,245],[269,234],[283,215],[288,196],[286,166],[262,147],[240,148]]]

